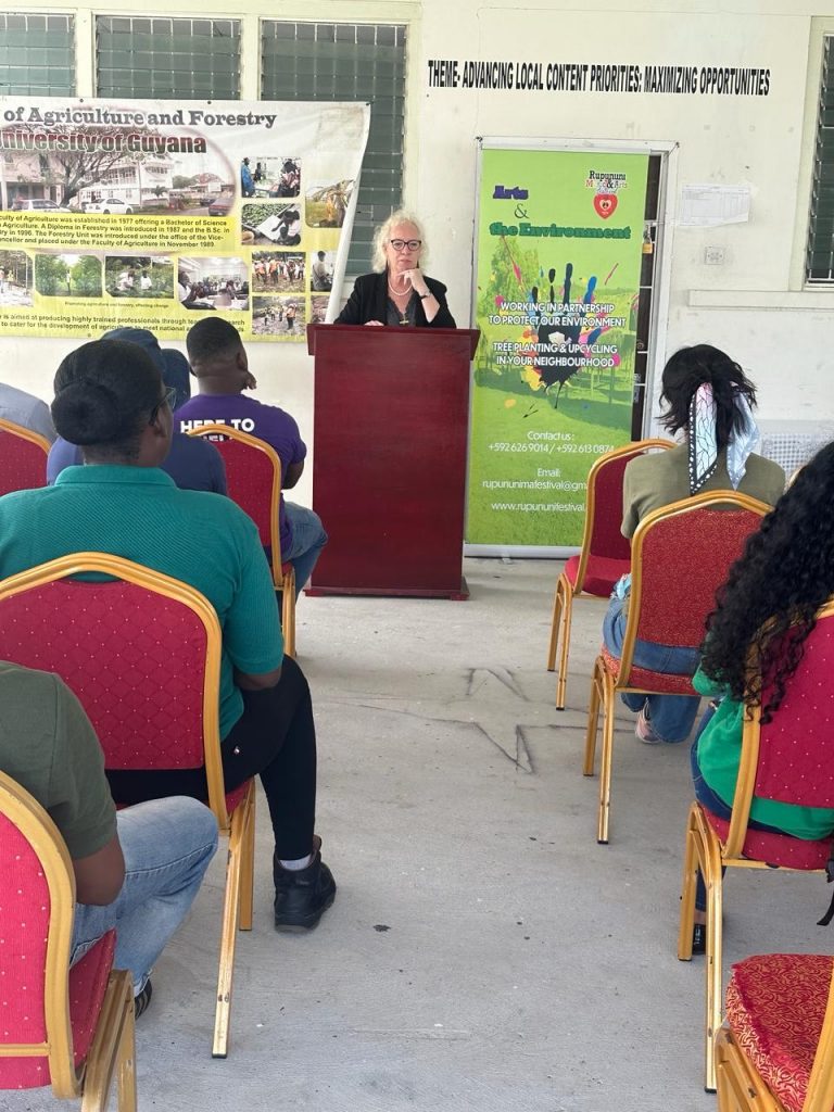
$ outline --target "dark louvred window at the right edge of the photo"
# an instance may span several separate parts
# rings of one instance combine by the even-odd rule
[[[805,279],[834,285],[834,34],[823,46]]]

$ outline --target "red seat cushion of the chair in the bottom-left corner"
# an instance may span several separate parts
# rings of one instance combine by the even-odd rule
[[[116,931],[108,931],[70,970],[70,1024],[76,1069],[87,1058],[96,1033],[115,951]],[[0,1041],[2,1035],[0,1019]],[[49,1084],[51,1079],[46,1058],[0,1058],[0,1089],[38,1089]]]

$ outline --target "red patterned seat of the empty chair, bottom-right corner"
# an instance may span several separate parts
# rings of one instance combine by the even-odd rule
[[[832,957],[818,954],[764,954],[733,966],[733,1037],[788,1112],[802,1112],[831,973]]]

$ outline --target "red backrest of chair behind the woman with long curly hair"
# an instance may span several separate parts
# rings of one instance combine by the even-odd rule
[[[770,688],[763,692],[767,703]],[[754,795],[834,807],[834,614],[817,618],[773,718],[759,726]]]

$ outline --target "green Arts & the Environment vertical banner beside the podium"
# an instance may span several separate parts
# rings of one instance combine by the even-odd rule
[[[575,547],[631,439],[647,155],[481,149],[466,539]]]

